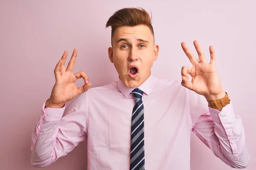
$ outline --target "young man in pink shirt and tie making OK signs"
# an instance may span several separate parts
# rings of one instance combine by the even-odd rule
[[[189,170],[193,131],[230,167],[247,167],[243,125],[221,87],[213,47],[207,63],[197,41],[199,60],[182,42],[193,67],[183,66],[180,85],[151,74],[159,47],[144,9],[116,11],[108,26],[108,55],[118,80],[88,90],[87,75],[73,74],[77,50],[66,70],[64,51],[55,67],[52,94],[32,132],[32,165],[46,167],[87,139],[88,170]],[[85,84],[78,88],[79,78]],[[78,95],[62,117],[65,103]]]

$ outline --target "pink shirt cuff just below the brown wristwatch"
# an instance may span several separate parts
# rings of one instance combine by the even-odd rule
[[[233,119],[236,118],[234,110],[233,110],[233,104],[230,101],[230,104],[225,105],[221,111],[218,111],[217,109],[209,108],[210,115],[212,116],[212,120],[215,122],[219,122],[222,124],[228,124],[229,122],[233,122]]]

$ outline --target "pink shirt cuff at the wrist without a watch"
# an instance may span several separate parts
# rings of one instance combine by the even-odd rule
[[[66,103],[63,108],[45,108],[47,100],[44,102],[43,111],[41,113],[43,119],[47,122],[59,122],[66,108]]]

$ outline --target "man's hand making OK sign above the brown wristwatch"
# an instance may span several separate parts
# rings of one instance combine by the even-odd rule
[[[185,42],[181,43],[182,49],[189,58],[193,67],[183,66],[181,69],[181,85],[195,91],[197,94],[205,96],[207,100],[217,100],[225,96],[225,92],[221,87],[221,81],[216,69],[216,58],[213,46],[209,47],[210,62],[207,63],[206,57],[198,41],[194,41],[195,49],[198,53],[198,59],[189,50]],[[189,75],[192,81],[189,81]]]

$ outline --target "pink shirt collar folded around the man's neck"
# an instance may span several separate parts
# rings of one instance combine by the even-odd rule
[[[141,85],[139,85],[137,88],[142,90],[145,94],[149,95],[152,89],[154,88],[154,84],[155,84],[155,77],[151,73],[148,79],[146,79],[146,81],[143,82]],[[119,88],[119,91],[121,91],[122,94],[125,95],[125,97],[127,97],[131,93],[131,91],[134,90],[134,88],[127,87],[125,83],[122,82],[120,77],[118,77],[117,87]]]

